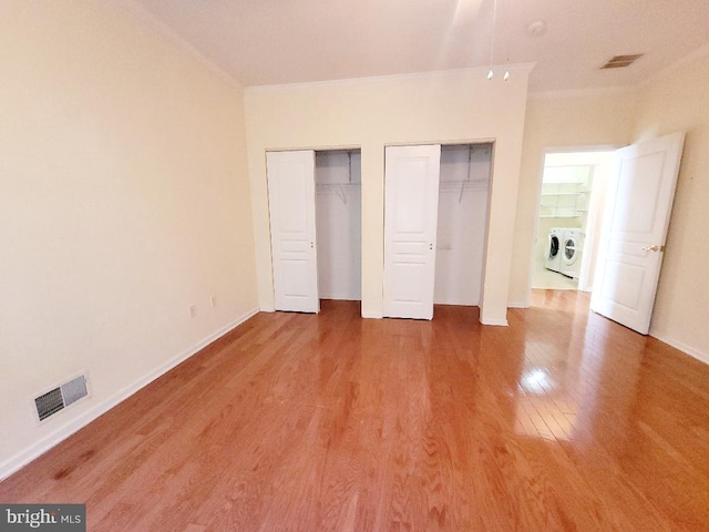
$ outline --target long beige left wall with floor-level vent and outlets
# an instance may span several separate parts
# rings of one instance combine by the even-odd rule
[[[1,478],[258,301],[238,88],[111,2],[4,0],[0,65]]]

